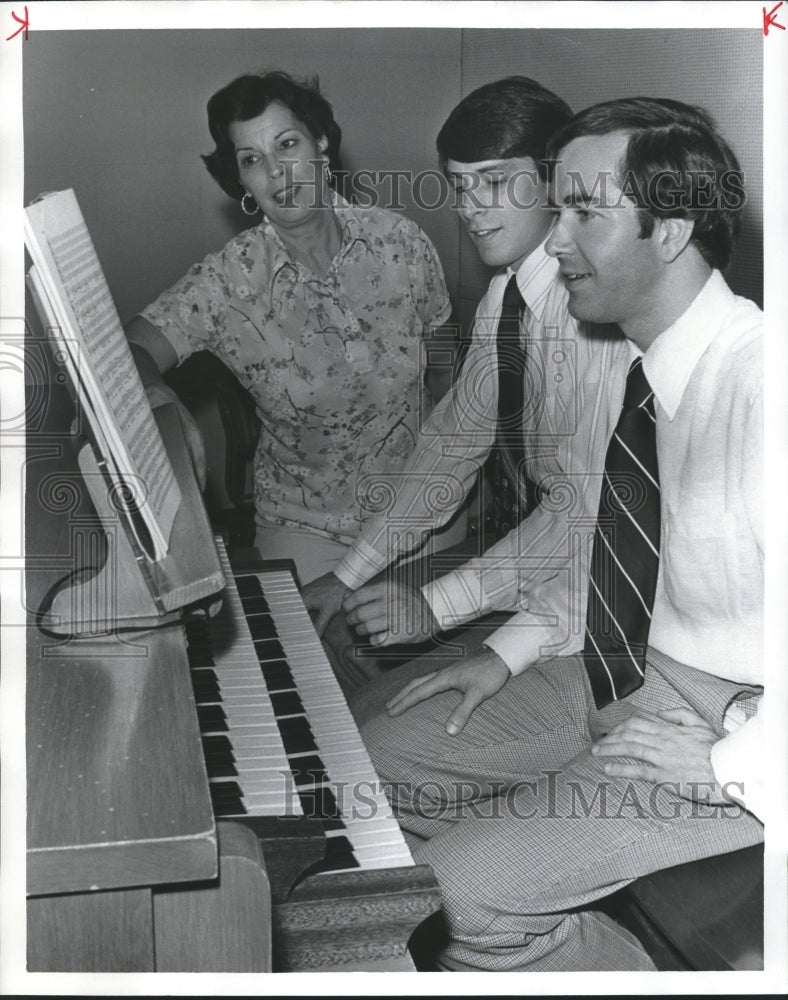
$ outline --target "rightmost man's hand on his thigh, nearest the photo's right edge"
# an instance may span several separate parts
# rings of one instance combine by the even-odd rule
[[[711,766],[718,739],[699,715],[676,708],[660,712],[658,719],[633,715],[597,740],[591,752],[605,758],[606,774],[670,784],[683,798],[727,804],[731,800]]]

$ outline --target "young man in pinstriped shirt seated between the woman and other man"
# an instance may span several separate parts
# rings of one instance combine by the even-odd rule
[[[370,517],[334,573],[304,591],[321,632],[345,598],[357,635],[343,633],[337,615],[324,635],[329,647],[344,637],[352,650],[369,638],[374,647],[394,644],[401,658],[402,643],[477,622],[461,641],[466,651],[478,648],[563,563],[577,531],[574,524],[570,530],[570,516],[576,521],[584,511],[593,525],[596,510],[586,509],[582,480],[598,442],[606,443],[600,397],[608,373],[628,349],[619,330],[589,335],[570,314],[558,262],[545,251],[552,214],[544,154],[570,117],[564,101],[539,83],[507,77],[465,97],[438,134],[452,205],[482,260],[497,271],[476,311],[462,369],[408,465],[386,482],[368,484],[373,497],[391,491],[391,505]],[[365,586],[448,521],[485,462],[492,530]],[[551,491],[568,474],[572,503]],[[425,583],[422,574],[433,575],[439,562],[443,574]],[[369,677],[391,662],[388,652],[336,656],[346,692],[361,690],[363,700]],[[435,665],[453,655],[438,646]]]

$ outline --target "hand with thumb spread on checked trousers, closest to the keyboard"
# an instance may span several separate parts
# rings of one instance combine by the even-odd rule
[[[460,691],[462,701],[446,721],[446,732],[456,736],[464,729],[474,709],[497,694],[510,677],[511,672],[501,657],[488,649],[458,660],[443,670],[414,678],[386,703],[386,708],[389,715],[401,715],[441,691]]]

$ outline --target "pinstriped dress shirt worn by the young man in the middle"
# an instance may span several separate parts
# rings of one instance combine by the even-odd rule
[[[390,491],[390,505],[366,523],[335,568],[347,586],[358,588],[406,551],[408,544],[418,544],[445,523],[473,486],[495,440],[497,326],[510,274],[508,269],[496,274],[479,303],[462,371],[425,423],[407,469]],[[526,302],[523,332],[528,365],[541,386],[538,405],[526,401],[524,407],[526,472],[552,492],[483,556],[424,588],[442,628],[489,610],[525,607],[525,591],[552,578],[556,566],[565,565],[575,544],[575,515],[586,505],[587,491],[578,477],[596,467],[584,449],[587,440],[599,436],[606,442],[608,434],[606,418],[598,435],[587,435],[582,428],[599,419],[600,408],[607,410],[608,371],[619,355],[629,356],[620,332],[599,328],[590,334],[569,315],[558,262],[545,253],[544,244],[518,268],[517,283]],[[581,450],[576,454],[577,443]],[[570,469],[577,475],[569,477],[575,502],[568,504],[565,486]],[[595,516],[595,506],[586,511],[586,533]]]

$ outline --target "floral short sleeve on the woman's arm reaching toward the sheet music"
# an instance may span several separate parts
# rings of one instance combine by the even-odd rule
[[[209,350],[227,325],[230,278],[224,254],[209,254],[142,310],[178,355]]]

